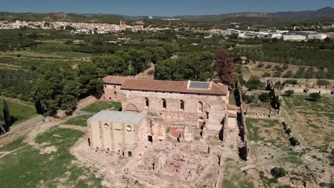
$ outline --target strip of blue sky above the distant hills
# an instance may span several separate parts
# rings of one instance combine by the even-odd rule
[[[303,11],[334,0],[0,0],[0,11],[103,13],[131,16],[226,14],[242,11]]]

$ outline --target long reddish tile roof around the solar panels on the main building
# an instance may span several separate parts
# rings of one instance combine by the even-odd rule
[[[126,90],[150,90],[177,93],[202,93],[213,95],[227,95],[228,86],[213,83],[210,90],[188,89],[188,81],[168,81],[168,80],[136,80],[126,79],[121,89]]]

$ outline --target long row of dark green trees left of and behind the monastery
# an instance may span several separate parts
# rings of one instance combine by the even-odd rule
[[[151,62],[171,56],[177,48],[162,46],[142,50],[116,51],[111,56],[96,56],[92,61],[76,65],[49,61],[38,68],[39,78],[34,85],[36,111],[56,115],[57,110],[71,114],[81,98],[101,95],[106,75],[136,75],[146,70]]]

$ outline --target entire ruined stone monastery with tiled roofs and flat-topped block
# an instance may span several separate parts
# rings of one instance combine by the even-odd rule
[[[96,150],[135,157],[148,144],[193,142],[205,135],[223,140],[237,128],[237,108],[228,103],[226,85],[113,75],[103,83],[101,99],[121,102],[122,111],[103,110],[88,119],[89,139]]]

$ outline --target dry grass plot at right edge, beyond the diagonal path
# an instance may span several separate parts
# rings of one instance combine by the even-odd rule
[[[318,101],[308,100],[308,95],[283,96],[285,108],[295,123],[295,128],[308,145],[328,147],[334,142],[334,98],[325,96]]]

